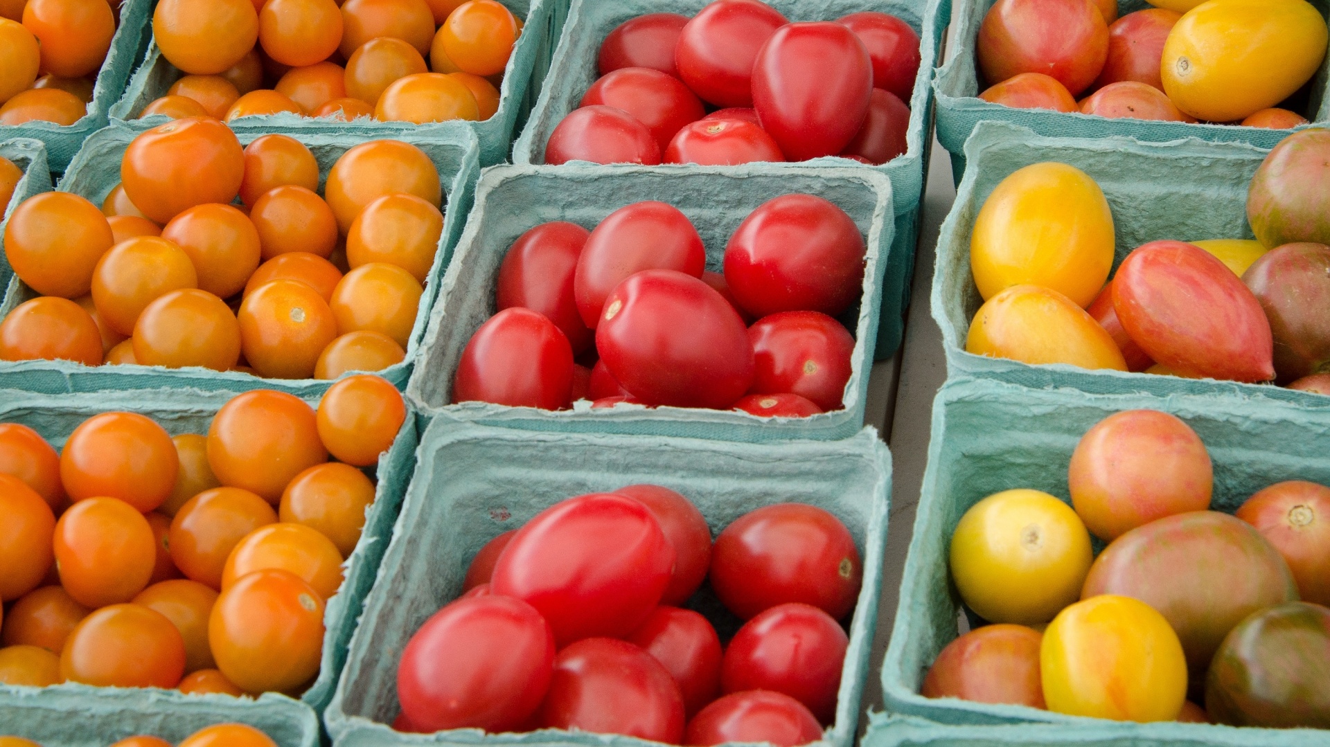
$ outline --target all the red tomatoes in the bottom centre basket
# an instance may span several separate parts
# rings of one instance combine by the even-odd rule
[[[475,556],[463,597],[412,635],[399,731],[577,728],[669,744],[821,739],[862,581],[850,530],[803,504],[753,510],[713,545],[657,485],[577,496]],[[722,649],[684,605],[746,621]]]

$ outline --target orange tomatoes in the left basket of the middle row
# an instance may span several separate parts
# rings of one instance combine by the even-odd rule
[[[242,149],[192,117],[137,136],[120,174],[101,210],[66,191],[15,207],[5,257],[41,296],[0,323],[0,359],[335,379],[406,358],[443,231],[419,148],[350,148],[321,195],[299,141]]]

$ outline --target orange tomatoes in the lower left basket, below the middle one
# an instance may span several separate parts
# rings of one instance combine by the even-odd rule
[[[206,436],[106,412],[57,455],[0,425],[0,682],[298,695],[374,501],[362,468],[406,415],[360,375],[317,412],[238,395]]]

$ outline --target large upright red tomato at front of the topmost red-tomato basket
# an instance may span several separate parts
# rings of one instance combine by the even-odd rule
[[[753,64],[753,108],[790,161],[835,156],[863,126],[872,60],[841,24],[782,27]]]

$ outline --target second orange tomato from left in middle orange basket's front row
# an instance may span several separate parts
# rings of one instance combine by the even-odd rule
[[[226,302],[186,288],[148,304],[134,324],[134,360],[142,366],[202,366],[226,371],[241,356],[241,326]]]

